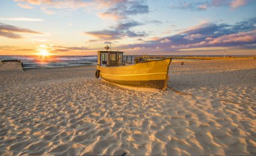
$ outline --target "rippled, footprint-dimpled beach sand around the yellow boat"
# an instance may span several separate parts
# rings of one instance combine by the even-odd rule
[[[256,61],[172,63],[166,92],[95,70],[0,71],[0,155],[256,155]]]

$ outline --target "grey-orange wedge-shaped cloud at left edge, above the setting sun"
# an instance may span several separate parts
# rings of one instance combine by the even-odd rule
[[[29,30],[26,28],[20,28],[20,27],[11,26],[8,24],[0,23],[0,36],[4,36],[6,38],[13,38],[13,39],[22,38],[22,36],[18,33],[42,34],[40,32],[35,32],[33,30]]]

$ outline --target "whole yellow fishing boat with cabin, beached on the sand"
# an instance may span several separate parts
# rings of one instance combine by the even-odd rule
[[[96,78],[120,85],[166,90],[171,58],[155,61],[141,59],[135,65],[125,65],[123,52],[98,51]]]

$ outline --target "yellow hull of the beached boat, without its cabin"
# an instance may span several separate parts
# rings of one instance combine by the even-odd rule
[[[121,67],[97,66],[100,77],[111,83],[135,87],[166,89],[171,59]]]

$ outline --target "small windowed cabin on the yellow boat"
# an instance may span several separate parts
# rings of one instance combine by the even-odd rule
[[[123,64],[123,52],[98,51],[98,65],[104,67],[119,67]]]

